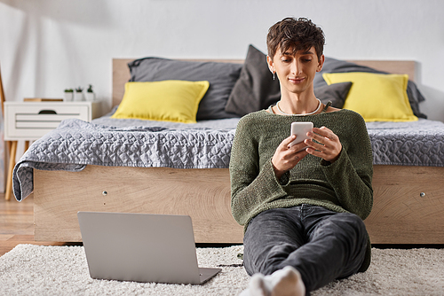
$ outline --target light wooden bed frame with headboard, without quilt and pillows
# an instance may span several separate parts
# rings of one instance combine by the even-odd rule
[[[131,59],[113,60],[113,105]],[[215,61],[215,60],[212,60]],[[242,63],[242,60],[216,60]],[[353,61],[415,77],[413,61]],[[444,167],[374,166],[374,206],[365,220],[373,244],[444,244]],[[230,209],[227,168],[87,166],[34,170],[35,239],[81,241],[77,211],[188,214],[196,243],[242,243]]]

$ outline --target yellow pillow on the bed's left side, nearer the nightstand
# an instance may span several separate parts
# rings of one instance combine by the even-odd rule
[[[166,80],[127,82],[111,118],[195,123],[197,108],[210,82]]]

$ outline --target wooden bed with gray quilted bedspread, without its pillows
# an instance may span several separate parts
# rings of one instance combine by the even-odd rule
[[[234,66],[237,76],[232,77],[235,84],[242,75],[244,78],[255,75],[242,74],[248,70],[245,69],[247,62],[252,60],[254,53],[253,59],[258,58],[258,52],[254,51],[250,47],[245,60],[184,62],[237,65]],[[132,61],[124,58],[113,60],[114,106],[122,101],[125,82],[131,78],[128,63]],[[335,62],[335,59],[332,61]],[[415,77],[413,61],[348,62],[369,66],[375,71],[408,74],[410,80]],[[412,104],[412,109],[415,108],[417,105]],[[230,144],[239,117],[238,114],[220,120],[203,119],[192,124],[190,129],[184,129],[184,124],[163,125],[161,121],[150,127],[140,126],[139,121],[131,120],[120,126],[110,126],[112,119],[109,114],[92,123],[64,121],[59,129],[69,130],[68,138],[82,134],[83,144],[71,144],[71,140],[66,138],[58,142],[61,133],[58,129],[37,140],[14,167],[14,195],[22,200],[31,191],[34,192],[35,239],[40,241],[81,241],[77,211],[102,211],[188,214],[193,220],[196,243],[241,244],[242,226],[234,221],[230,209],[227,168]],[[221,125],[214,123],[219,121]],[[122,138],[141,135],[135,142],[145,143],[144,148],[136,144],[125,148],[125,144],[121,144],[113,148],[114,152],[107,152],[107,157],[103,153],[95,153],[89,160],[79,160],[72,155],[57,156],[59,158],[55,161],[46,160],[46,152],[51,149],[88,153],[91,146],[97,145],[88,142],[93,129],[103,130],[103,135],[120,135],[106,136],[101,145],[113,145],[120,143]],[[444,211],[444,191],[441,188],[444,124],[419,118],[413,123],[370,122],[368,129],[375,159],[374,206],[365,220],[371,242],[444,244],[444,220],[441,218]],[[178,130],[181,130],[179,136]],[[418,137],[423,138],[423,144],[417,144]],[[138,155],[140,152],[143,155],[152,152],[154,148],[147,143],[154,138],[156,151],[162,150],[168,154],[167,157],[154,152],[150,158]],[[202,142],[209,147],[195,147]],[[194,145],[192,152],[182,150],[188,144]],[[127,153],[125,158],[115,156],[121,149],[131,153]],[[209,153],[212,153],[210,157]]]

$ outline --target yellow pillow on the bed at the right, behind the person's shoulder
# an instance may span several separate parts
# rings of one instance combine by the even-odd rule
[[[328,84],[353,82],[344,109],[365,121],[417,121],[407,96],[407,74],[325,73]]]

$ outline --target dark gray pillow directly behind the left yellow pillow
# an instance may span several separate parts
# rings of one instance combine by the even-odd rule
[[[130,82],[163,80],[210,82],[210,88],[199,104],[197,121],[238,117],[234,113],[227,113],[225,106],[234,83],[239,78],[242,64],[140,58],[132,61],[128,66],[131,72]]]

